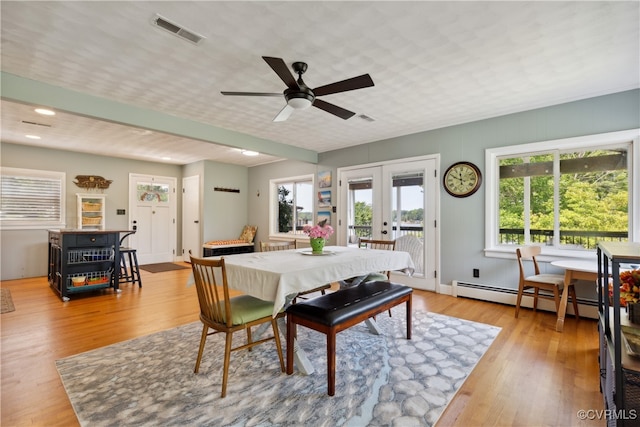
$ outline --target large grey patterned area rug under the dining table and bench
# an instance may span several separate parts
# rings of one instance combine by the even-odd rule
[[[337,336],[336,394],[327,395],[325,335],[300,327],[315,372],[280,372],[275,345],[231,355],[220,398],[224,337],[208,338],[193,368],[201,324],[159,332],[56,362],[83,426],[431,426],[500,328],[404,307]],[[244,334],[238,334],[238,340]]]

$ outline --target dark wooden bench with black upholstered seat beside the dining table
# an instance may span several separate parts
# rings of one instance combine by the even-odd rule
[[[336,385],[336,334],[404,302],[407,304],[407,339],[411,339],[412,292],[408,286],[376,281],[290,305],[287,308],[287,374],[293,373],[297,325],[322,332],[327,335],[328,394],[333,396]]]

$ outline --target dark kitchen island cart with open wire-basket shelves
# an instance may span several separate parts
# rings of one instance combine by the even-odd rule
[[[49,230],[48,280],[63,301],[79,292],[118,291],[119,235],[118,230]]]

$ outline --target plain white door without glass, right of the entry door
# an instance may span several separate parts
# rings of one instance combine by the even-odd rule
[[[200,224],[200,176],[182,180],[182,260],[190,262],[193,256],[202,256],[202,228]]]

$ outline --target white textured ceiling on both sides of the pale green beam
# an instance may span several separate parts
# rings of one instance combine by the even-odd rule
[[[1,68],[22,78],[315,152],[640,87],[640,15],[632,2],[5,1]],[[159,13],[206,40],[154,28]],[[371,88],[271,120],[284,99],[261,56],[304,61],[313,88],[369,73]],[[280,156],[2,101],[2,141],[185,164],[251,166]],[[362,120],[367,115],[374,122]],[[37,120],[35,120],[37,119]],[[27,125],[43,120],[51,127]],[[25,133],[40,130],[31,141]],[[216,141],[237,145],[237,142]]]

